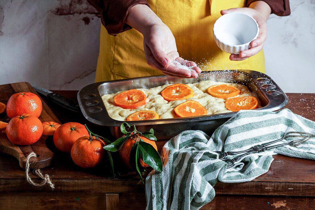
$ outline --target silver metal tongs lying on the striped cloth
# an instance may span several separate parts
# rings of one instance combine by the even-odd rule
[[[297,134],[301,134],[301,135],[297,135]],[[277,144],[277,145],[273,145],[273,146],[268,146],[270,144],[279,142],[281,140],[284,140],[284,139],[290,138],[290,137],[299,137],[300,139],[292,140],[290,142],[281,143],[281,144]],[[303,137],[303,138],[301,138],[301,137]],[[255,146],[253,146],[253,147],[251,147],[249,149],[243,150],[243,151],[238,151],[238,152],[214,151],[214,152],[219,154],[219,160],[232,163],[231,165],[227,166],[227,168],[231,168],[232,166],[234,166],[236,161],[240,160],[245,155],[248,155],[248,154],[251,154],[251,153],[263,152],[263,151],[266,151],[266,150],[269,150],[269,149],[273,149],[273,148],[276,148],[276,147],[280,147],[280,146],[284,146],[284,145],[290,145],[292,147],[296,147],[296,146],[298,146],[298,145],[300,145],[302,143],[305,143],[306,141],[308,141],[309,139],[311,139],[313,137],[315,137],[315,135],[312,134],[312,133],[299,132],[299,131],[290,131],[290,132],[286,132],[282,138],[279,138],[277,140],[273,140],[271,142],[258,144],[258,145],[255,145]],[[232,159],[226,158],[226,156],[228,156],[228,155],[237,155],[237,154],[241,154],[241,153],[244,153],[244,154],[238,155],[238,156],[236,156],[235,158],[232,158]],[[221,155],[221,157],[220,157],[220,155]]]

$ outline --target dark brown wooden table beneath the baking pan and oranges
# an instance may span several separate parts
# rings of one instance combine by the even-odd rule
[[[76,100],[77,91],[56,91]],[[289,93],[289,108],[315,121],[315,94]],[[86,123],[90,130],[109,137],[106,127],[89,123],[82,114],[73,113],[42,96],[62,123]],[[166,141],[158,141],[160,151]],[[36,188],[26,182],[18,161],[0,154],[0,209],[145,209],[145,187],[134,172],[127,169],[118,178],[109,179],[109,167],[85,170],[70,156],[54,148],[55,165],[42,170],[55,184]],[[215,185],[215,198],[201,209],[315,209],[315,161],[275,155],[267,173],[245,183]],[[123,167],[123,166],[121,166]],[[34,181],[40,182],[32,175]]]

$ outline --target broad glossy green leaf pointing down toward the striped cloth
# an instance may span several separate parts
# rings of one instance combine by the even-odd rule
[[[156,171],[162,172],[162,160],[155,148],[151,144],[142,141],[138,142],[138,144],[140,156],[143,162],[151,166]]]

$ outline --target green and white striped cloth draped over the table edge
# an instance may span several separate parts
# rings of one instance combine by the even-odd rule
[[[268,171],[272,155],[315,160],[315,138],[297,147],[286,145],[249,154],[232,168],[226,168],[227,163],[218,160],[213,152],[249,149],[258,143],[279,139],[288,131],[315,134],[315,122],[289,109],[278,112],[241,110],[211,138],[202,131],[180,133],[163,147],[163,172],[153,170],[146,178],[146,209],[199,209],[214,198],[213,186],[218,180],[251,181]]]

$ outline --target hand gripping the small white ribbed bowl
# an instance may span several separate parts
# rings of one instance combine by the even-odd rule
[[[267,24],[266,21],[268,16],[270,15],[271,9],[269,5],[265,2],[256,1],[250,4],[251,8],[232,8],[227,10],[221,10],[221,15],[225,15],[231,12],[240,12],[246,15],[252,16],[258,23],[259,26],[259,35],[253,40],[249,46],[248,50],[243,50],[239,53],[239,55],[231,54],[231,61],[243,61],[250,56],[256,55],[264,46],[264,42],[267,38]]]

